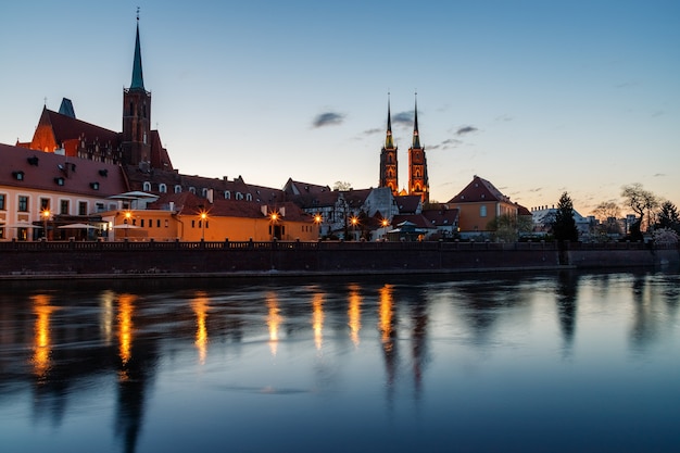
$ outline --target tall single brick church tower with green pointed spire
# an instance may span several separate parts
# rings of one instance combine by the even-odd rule
[[[139,11],[137,11],[137,37],[133,81],[123,89],[123,161],[139,165],[151,159],[151,92],[144,89],[141,71],[141,48],[139,45]]]

